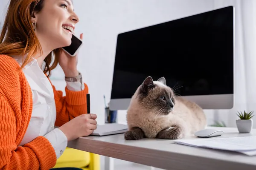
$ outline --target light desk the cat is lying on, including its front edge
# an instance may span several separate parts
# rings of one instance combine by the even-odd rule
[[[251,133],[239,133],[237,128],[208,127],[223,130],[220,137],[256,136]],[[192,139],[197,137],[189,137]],[[256,156],[241,153],[197,148],[182,144],[172,144],[167,139],[141,139],[126,141],[124,134],[111,136],[87,136],[68,143],[68,147],[109,156],[125,161],[172,170],[256,170]]]

